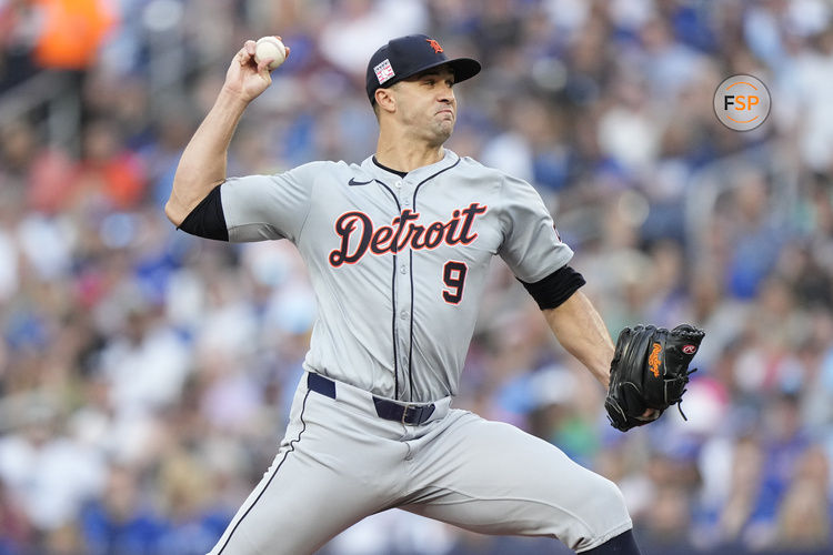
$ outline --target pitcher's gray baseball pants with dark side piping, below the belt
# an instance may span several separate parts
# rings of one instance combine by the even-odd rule
[[[314,553],[393,507],[576,552],[632,527],[615,484],[543,440],[451,408],[450,397],[422,424],[384,420],[370,393],[328,380],[320,393],[310,375],[322,383],[304,374],[274,462],[211,555]]]

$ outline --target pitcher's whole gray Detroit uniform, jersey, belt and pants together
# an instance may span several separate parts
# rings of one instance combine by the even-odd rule
[[[451,407],[492,256],[528,283],[572,256],[532,186],[445,151],[404,178],[314,162],[220,195],[231,241],[298,246],[319,319],[274,462],[211,555],[313,553],[392,507],[579,552],[632,526],[612,482]]]

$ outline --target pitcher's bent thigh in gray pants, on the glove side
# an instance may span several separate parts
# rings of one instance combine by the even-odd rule
[[[422,494],[402,508],[484,534],[556,537],[575,551],[632,526],[615,484],[509,424],[465,413],[429,451]]]

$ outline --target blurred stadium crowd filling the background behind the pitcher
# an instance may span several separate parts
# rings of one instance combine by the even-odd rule
[[[247,38],[292,56],[230,174],[375,147],[363,72],[426,32],[484,71],[450,148],[533,183],[615,336],[706,330],[682,405],[621,434],[502,263],[458,406],[616,481],[646,554],[831,553],[833,9],[822,0],[0,0],[0,554],[208,551],[283,434],[315,317],[287,242],[165,220]],[[723,128],[750,73],[772,112]],[[522,456],[523,454],[519,454]],[[550,553],[394,511],[342,554]]]

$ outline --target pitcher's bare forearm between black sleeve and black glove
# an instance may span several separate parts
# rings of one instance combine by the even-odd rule
[[[544,311],[561,345],[608,387],[614,345],[602,316],[581,291],[556,309]]]

